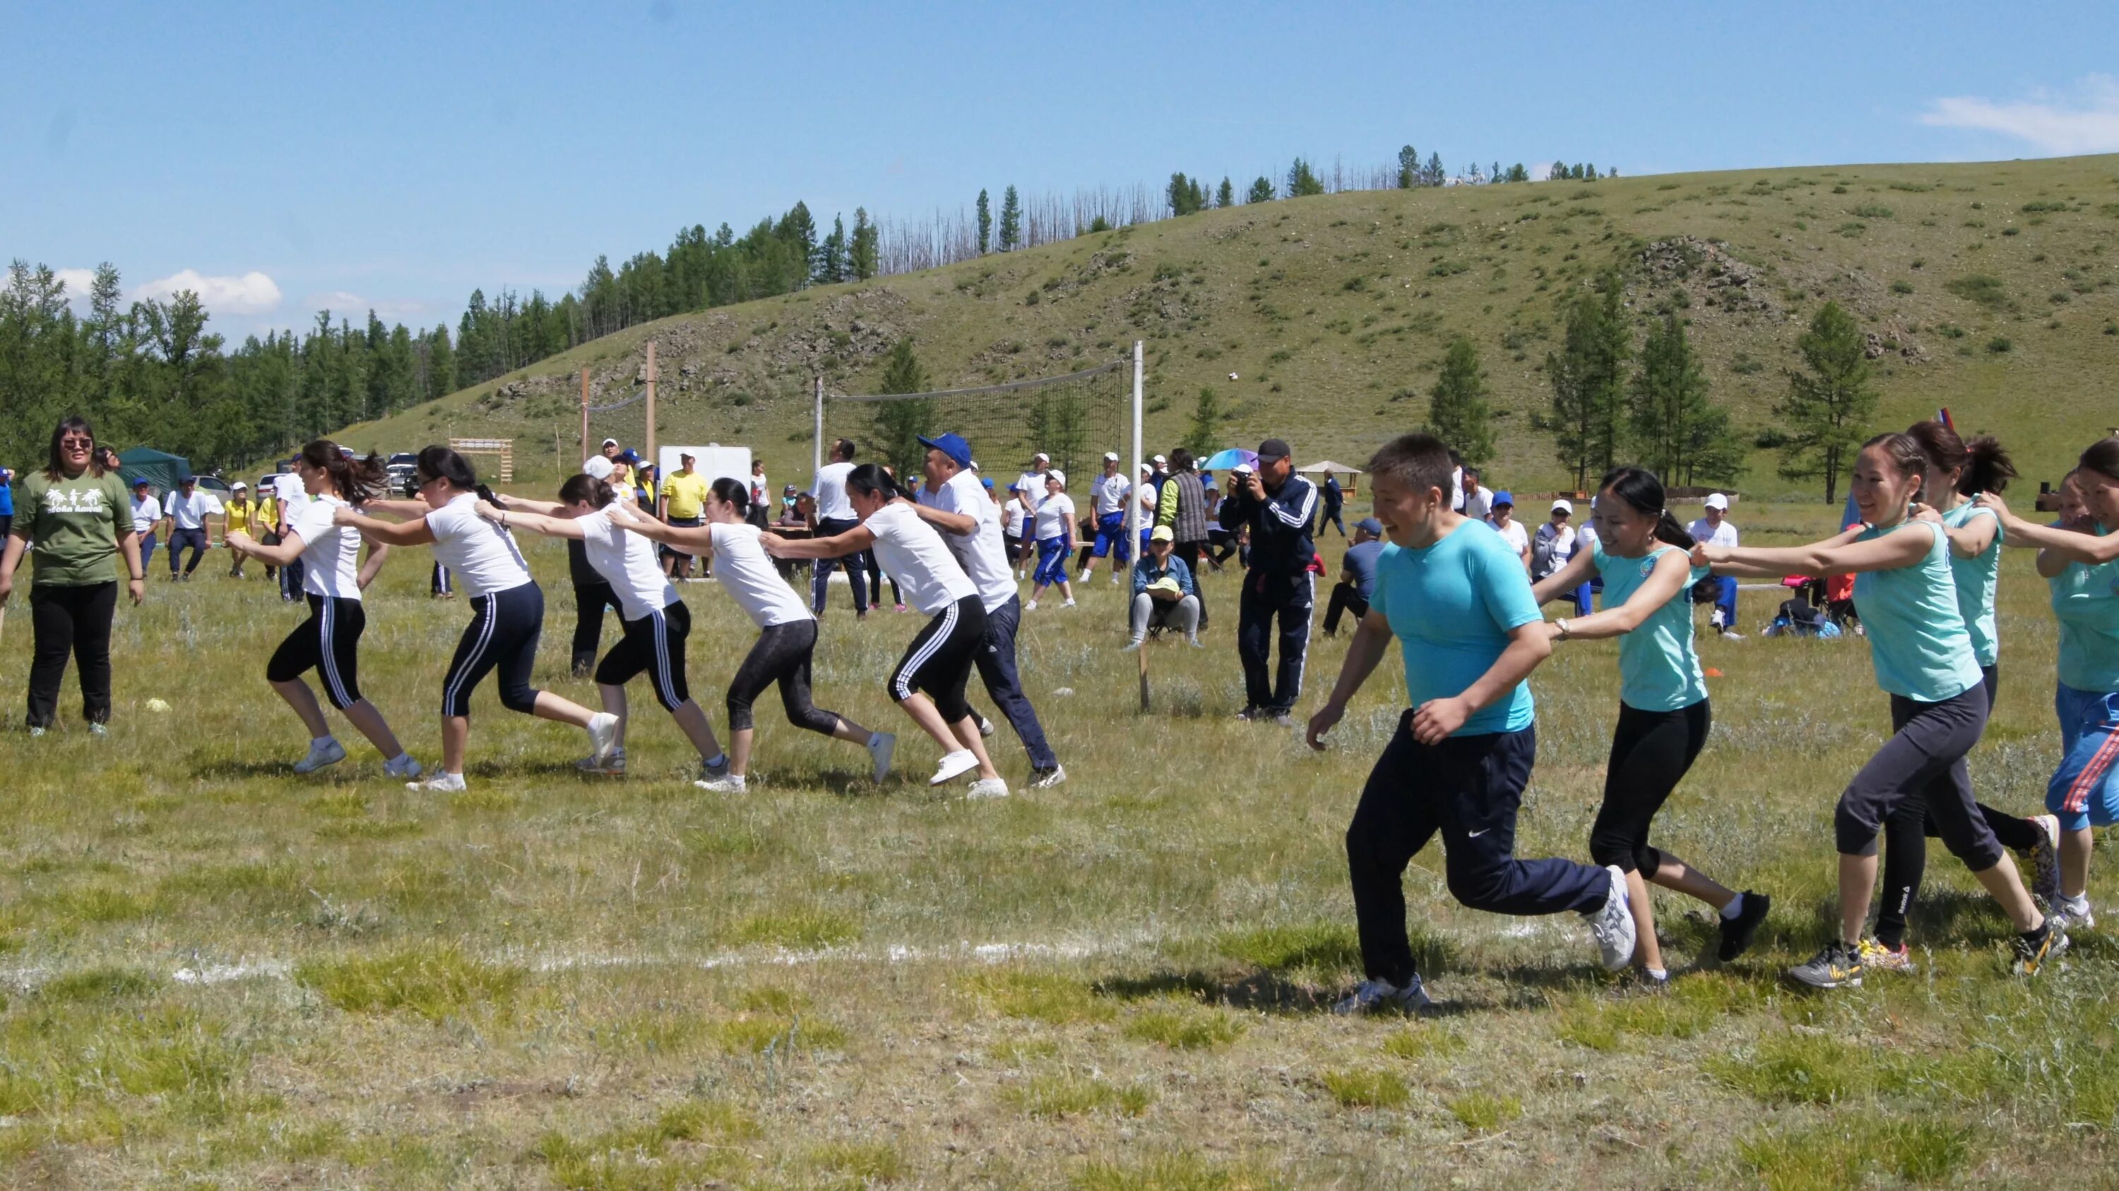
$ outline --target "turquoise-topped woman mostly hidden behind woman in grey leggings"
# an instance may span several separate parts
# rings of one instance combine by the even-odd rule
[[[2015,479],[2009,451],[1994,437],[1964,443],[1941,422],[1916,422],[1905,430],[1928,456],[1928,477],[1920,485],[1924,504],[1913,513],[1943,526],[1949,536],[1949,579],[1958,589],[1958,615],[1973,638],[1973,661],[1988,693],[1988,714],[2000,687],[2000,636],[1994,625],[1994,589],[2000,579],[2000,519],[1973,496],[2000,492]],[[1979,816],[2002,848],[2030,863],[2030,894],[2051,909],[2060,896],[2060,820],[2041,814],[2022,818],[1979,803]],[[1911,971],[1905,920],[1920,896],[1928,867],[1928,837],[1937,835],[1926,799],[1905,799],[1884,822],[1884,903],[1875,911],[1875,939],[1863,939],[1863,966]]]

